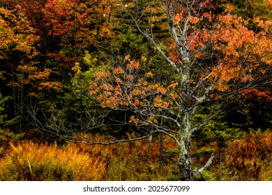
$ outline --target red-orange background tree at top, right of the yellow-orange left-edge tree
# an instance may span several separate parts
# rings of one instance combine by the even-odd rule
[[[86,49],[96,52],[105,40],[112,38],[112,0],[78,1],[47,0],[43,8],[43,26],[47,40],[54,40],[48,49],[48,65],[61,77],[80,61]],[[51,41],[52,41],[51,40]],[[45,45],[46,46],[46,45]],[[53,62],[52,62],[53,61]],[[63,77],[66,81],[67,77]],[[70,78],[69,78],[70,79]]]

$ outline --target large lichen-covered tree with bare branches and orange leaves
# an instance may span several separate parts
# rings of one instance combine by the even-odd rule
[[[217,14],[214,5],[213,1],[201,0],[119,2],[116,6],[151,43],[163,59],[162,68],[167,68],[171,75],[162,80],[156,72],[143,68],[151,58],[135,59],[126,54],[109,59],[108,65],[90,79],[90,98],[103,108],[126,112],[118,122],[134,125],[142,132],[141,136],[126,140],[112,137],[101,142],[73,130],[57,127],[51,131],[87,144],[112,144],[165,134],[176,142],[179,150],[180,179],[194,180],[211,164],[213,155],[201,169],[192,170],[192,134],[230,109],[229,104],[246,90],[262,91],[262,86],[271,84],[267,79],[272,62],[271,22],[255,18],[262,30],[250,31],[245,27],[246,20],[230,14],[232,6]],[[168,26],[168,38],[153,33],[157,22],[153,9],[163,10],[161,21]],[[143,17],[149,18],[144,26]],[[85,60],[91,61],[91,56],[85,56]],[[80,70],[80,64],[75,68]],[[203,113],[203,107],[212,104],[216,106]],[[193,124],[192,118],[197,114],[205,114],[205,120]]]

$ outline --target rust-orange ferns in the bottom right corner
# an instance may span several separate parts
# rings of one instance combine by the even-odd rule
[[[227,147],[226,164],[238,180],[266,180],[272,178],[272,133],[250,135],[233,141]],[[270,171],[269,171],[270,169]],[[270,175],[269,175],[270,174]]]

